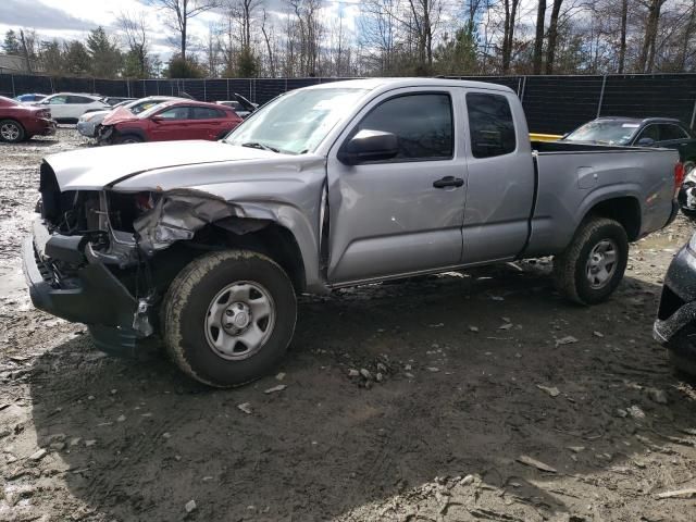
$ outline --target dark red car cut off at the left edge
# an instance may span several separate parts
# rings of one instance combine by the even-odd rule
[[[55,122],[51,120],[51,111],[0,96],[0,141],[16,144],[32,136],[54,134]]]

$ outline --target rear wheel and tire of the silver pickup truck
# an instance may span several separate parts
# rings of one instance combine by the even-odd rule
[[[554,258],[556,288],[571,301],[596,304],[619,286],[629,261],[629,239],[620,223],[591,217],[566,251]]]

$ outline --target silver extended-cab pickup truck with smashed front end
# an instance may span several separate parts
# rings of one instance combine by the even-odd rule
[[[281,361],[299,293],[555,256],[558,288],[599,302],[629,241],[674,219],[682,174],[673,150],[531,144],[498,85],[318,85],[217,142],[46,158],[25,273],[100,349],[159,335],[188,375],[235,386]]]

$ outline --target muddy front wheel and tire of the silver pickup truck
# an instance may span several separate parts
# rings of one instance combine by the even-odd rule
[[[296,318],[295,289],[277,263],[248,250],[212,252],[172,282],[163,302],[164,344],[192,378],[239,386],[277,366]]]

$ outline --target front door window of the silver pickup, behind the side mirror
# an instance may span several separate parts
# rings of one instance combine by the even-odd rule
[[[369,129],[395,134],[399,153],[389,160],[394,162],[451,158],[452,127],[449,95],[406,95],[374,108],[356,132]]]

